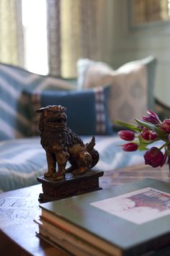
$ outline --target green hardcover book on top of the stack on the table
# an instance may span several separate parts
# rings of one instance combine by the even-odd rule
[[[40,205],[42,218],[107,255],[140,255],[170,244],[170,184],[122,184]]]

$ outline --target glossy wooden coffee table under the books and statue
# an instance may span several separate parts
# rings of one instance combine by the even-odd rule
[[[170,182],[169,170],[140,165],[108,171],[101,177],[103,189],[117,184],[133,182],[144,177]],[[0,193],[0,255],[69,255],[60,247],[54,248],[39,239],[34,218],[40,215],[38,197],[41,185]]]

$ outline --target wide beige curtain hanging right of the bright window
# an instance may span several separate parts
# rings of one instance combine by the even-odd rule
[[[79,58],[101,59],[101,16],[105,0],[47,0],[49,72],[76,77]]]

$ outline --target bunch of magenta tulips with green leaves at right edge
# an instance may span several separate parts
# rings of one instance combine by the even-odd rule
[[[142,116],[141,120],[135,119],[137,124],[115,121],[122,127],[128,128],[118,132],[122,140],[128,141],[121,145],[122,150],[146,150],[143,155],[146,164],[152,167],[162,167],[167,160],[170,167],[170,119],[161,121],[158,115],[151,110],[147,111],[147,114],[148,116]],[[147,148],[148,145],[158,140],[162,142],[160,148],[155,146]]]

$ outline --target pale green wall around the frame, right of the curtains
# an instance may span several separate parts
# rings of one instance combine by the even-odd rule
[[[156,56],[158,65],[154,94],[162,103],[170,106],[170,22],[130,27],[129,3],[128,0],[112,1],[112,13],[115,15],[112,15],[109,29],[107,62],[117,68],[128,61],[148,55]]]

